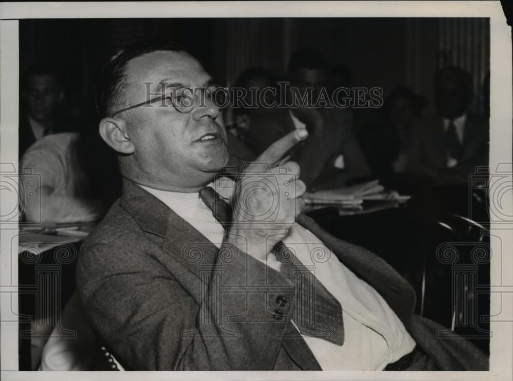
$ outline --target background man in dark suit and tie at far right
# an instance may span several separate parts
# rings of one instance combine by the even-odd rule
[[[437,113],[418,120],[410,135],[408,170],[439,183],[468,184],[476,166],[488,165],[489,121],[468,111],[472,82],[451,66],[435,77]]]

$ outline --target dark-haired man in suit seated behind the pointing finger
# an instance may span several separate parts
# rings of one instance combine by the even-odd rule
[[[294,52],[287,68],[290,107],[278,107],[253,118],[248,134],[248,144],[261,154],[288,132],[306,128],[309,139],[294,148],[291,160],[299,164],[307,189],[341,187],[351,177],[370,175],[354,134],[351,112],[317,104],[323,89],[328,88],[328,69],[321,53],[306,48]],[[306,102],[295,102],[303,96]]]

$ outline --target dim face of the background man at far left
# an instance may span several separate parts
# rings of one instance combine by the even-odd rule
[[[55,115],[61,90],[49,74],[33,74],[27,79],[25,100],[29,115],[38,122],[51,121]]]

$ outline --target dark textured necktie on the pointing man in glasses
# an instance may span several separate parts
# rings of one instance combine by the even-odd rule
[[[226,230],[231,222],[231,206],[211,187],[202,188],[200,198]],[[344,321],[339,301],[283,242],[274,247],[273,253],[282,262],[280,272],[292,282],[291,314],[298,330],[305,336],[343,345]]]

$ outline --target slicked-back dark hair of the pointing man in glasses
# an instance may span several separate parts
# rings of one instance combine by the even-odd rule
[[[181,45],[169,41],[143,41],[132,44],[114,54],[98,75],[96,110],[100,118],[107,117],[119,105],[123,86],[126,84],[127,64],[144,54],[155,51],[187,52]]]

